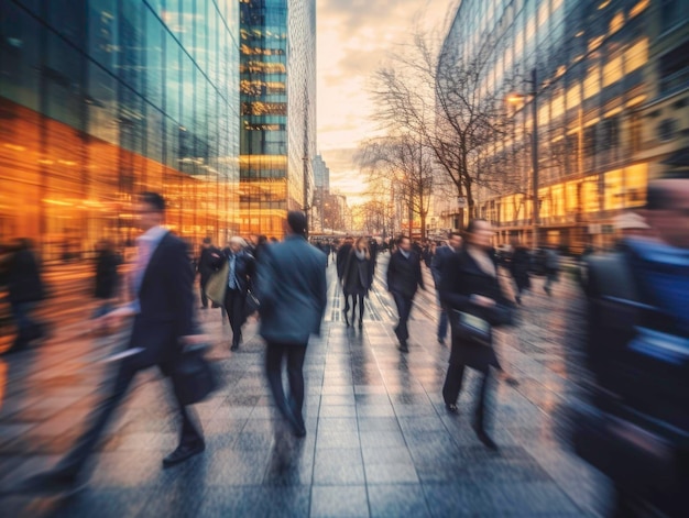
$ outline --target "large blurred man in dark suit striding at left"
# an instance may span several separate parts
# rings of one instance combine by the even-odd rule
[[[144,192],[135,213],[144,233],[136,240],[138,260],[133,275],[135,299],[102,317],[108,322],[133,316],[125,355],[117,367],[113,382],[89,416],[86,431],[72,451],[47,473],[29,478],[18,488],[22,493],[70,493],[79,487],[85,464],[102,436],[139,371],[157,365],[169,374],[185,343],[194,343],[194,271],[187,246],[162,227],[165,200],[155,192]],[[110,382],[109,382],[110,383]],[[168,467],[204,451],[201,432],[194,422],[192,409],[177,399],[182,418],[179,444],[163,460]]]

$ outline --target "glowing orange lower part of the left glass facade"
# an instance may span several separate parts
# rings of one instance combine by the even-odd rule
[[[0,110],[11,114],[0,126],[0,242],[32,238],[45,260],[89,254],[103,238],[124,245],[140,232],[129,208],[142,190],[167,198],[167,225],[193,242],[237,229],[236,180],[192,177],[6,99]]]

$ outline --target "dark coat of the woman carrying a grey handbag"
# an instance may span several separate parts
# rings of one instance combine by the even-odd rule
[[[466,250],[453,254],[445,264],[440,275],[439,293],[440,301],[448,309],[466,311],[489,322],[497,320],[497,308],[475,305],[471,301],[472,295],[489,297],[503,307],[512,306],[502,293],[497,276],[483,272]],[[449,318],[452,321],[457,315],[449,311]],[[492,348],[468,342],[463,337],[456,335],[453,329],[450,364],[469,365],[478,370],[485,370],[491,365],[499,366]]]

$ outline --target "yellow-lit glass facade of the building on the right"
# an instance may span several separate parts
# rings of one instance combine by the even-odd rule
[[[678,13],[671,37],[665,26],[666,3]],[[575,250],[590,242],[605,244],[604,235],[594,234],[609,228],[605,223],[620,211],[645,203],[648,177],[682,145],[680,132],[667,145],[659,143],[648,120],[658,107],[676,103],[677,96],[689,88],[686,58],[681,64],[675,59],[671,70],[664,71],[663,57],[657,57],[669,56],[669,62],[672,52],[686,48],[689,13],[680,3],[686,4],[649,0],[461,2],[446,48],[467,58],[490,47],[482,93],[505,99],[511,92],[527,93],[506,108],[514,118],[513,134],[490,145],[482,163],[484,170],[499,174],[511,167],[522,178],[518,189],[505,185],[502,192],[484,190],[479,196],[479,216],[500,228],[503,240],[516,234],[528,241],[534,131],[539,143],[542,242]],[[676,51],[666,52],[665,46]],[[533,70],[536,85],[528,81]],[[670,81],[675,82],[668,88]]]

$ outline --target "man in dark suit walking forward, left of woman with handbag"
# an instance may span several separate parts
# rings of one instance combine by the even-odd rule
[[[397,306],[400,322],[395,327],[395,334],[400,340],[400,351],[409,352],[407,340],[409,331],[407,322],[412,311],[412,301],[417,287],[426,289],[422,276],[422,263],[418,254],[412,250],[409,238],[402,236],[397,242],[397,251],[390,257],[387,265],[387,290],[392,294]]]

